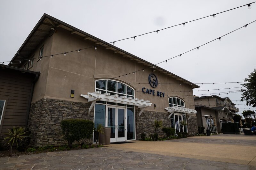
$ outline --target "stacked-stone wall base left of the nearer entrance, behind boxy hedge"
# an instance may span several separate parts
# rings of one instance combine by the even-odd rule
[[[63,139],[60,122],[65,119],[87,119],[93,121],[93,109],[91,113],[88,113],[90,105],[90,103],[48,98],[33,102],[28,119],[28,129],[32,134],[30,145],[43,147],[68,144]],[[77,144],[80,144],[80,142],[92,144],[92,138],[79,141]]]

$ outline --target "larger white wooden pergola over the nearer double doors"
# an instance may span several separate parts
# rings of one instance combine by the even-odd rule
[[[107,102],[114,102],[114,103],[121,103],[121,104],[126,104],[126,105],[133,105],[133,106],[138,106],[140,108],[140,113],[144,111],[146,107],[149,107],[152,105],[149,100],[144,101],[143,99],[132,99],[132,97],[127,97],[126,96],[118,96],[118,94],[110,95],[110,93],[104,93],[101,94],[100,91],[96,92],[88,92],[88,95],[81,94],[80,96],[84,97],[85,99],[88,99],[88,102],[92,102],[89,112],[91,112],[92,107],[96,103],[96,101],[107,101]]]

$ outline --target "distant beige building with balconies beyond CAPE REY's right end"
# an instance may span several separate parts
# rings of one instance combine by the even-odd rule
[[[221,132],[221,123],[233,122],[233,115],[239,112],[238,108],[228,97],[202,96],[195,97],[197,124],[213,132]],[[203,116],[210,115],[207,119]]]

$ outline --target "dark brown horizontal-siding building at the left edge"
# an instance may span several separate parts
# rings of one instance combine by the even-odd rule
[[[0,139],[14,126],[27,126],[39,72],[0,64]]]

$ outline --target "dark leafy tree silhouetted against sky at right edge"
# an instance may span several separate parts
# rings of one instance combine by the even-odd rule
[[[256,69],[244,79],[242,85],[245,89],[241,89],[242,97],[241,101],[246,101],[246,106],[256,107]]]

